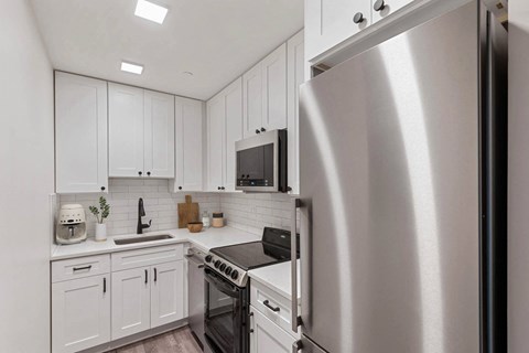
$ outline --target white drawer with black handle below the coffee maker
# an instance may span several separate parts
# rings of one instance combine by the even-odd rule
[[[52,282],[110,272],[110,255],[77,257],[52,263]]]

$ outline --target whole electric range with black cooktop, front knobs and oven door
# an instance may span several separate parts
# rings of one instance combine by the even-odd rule
[[[290,261],[290,237],[266,227],[260,242],[216,247],[205,257],[205,338],[215,353],[249,352],[248,271]]]

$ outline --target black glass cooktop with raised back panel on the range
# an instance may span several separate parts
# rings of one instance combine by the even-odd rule
[[[212,253],[245,270],[289,261],[290,232],[264,228],[262,242],[216,247]]]

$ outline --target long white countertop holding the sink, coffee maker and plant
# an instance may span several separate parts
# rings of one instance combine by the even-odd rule
[[[194,246],[199,247],[204,252],[208,252],[210,248],[226,245],[234,245],[240,243],[256,242],[260,240],[261,236],[251,234],[245,231],[223,227],[223,228],[207,228],[201,233],[190,233],[187,228],[182,229],[169,229],[145,233],[143,235],[155,235],[155,234],[170,234],[173,236],[172,239],[165,240],[155,240],[147,243],[136,243],[128,245],[116,245],[114,239],[127,238],[127,237],[140,237],[141,235],[128,234],[128,235],[117,235],[110,236],[106,242],[96,242],[94,238],[88,238],[86,242],[72,245],[60,245],[55,248],[52,254],[51,260],[60,260],[65,258],[73,258],[79,256],[90,256],[98,254],[108,254],[115,252],[123,252],[130,249],[147,248],[161,245],[170,245],[177,243],[192,243]],[[290,274],[290,272],[289,272]]]

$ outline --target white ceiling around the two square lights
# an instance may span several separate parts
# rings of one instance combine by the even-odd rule
[[[136,17],[136,0],[30,2],[55,68],[198,99],[303,26],[303,0],[153,0],[170,9],[163,24]]]

